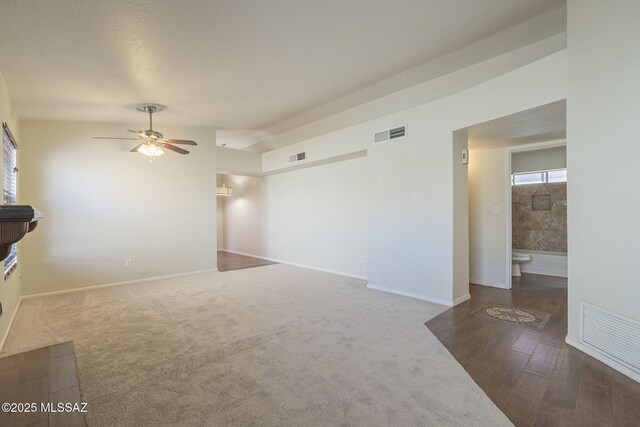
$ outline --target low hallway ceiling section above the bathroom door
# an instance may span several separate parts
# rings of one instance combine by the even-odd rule
[[[566,100],[500,117],[467,128],[469,149],[504,148],[566,138]]]

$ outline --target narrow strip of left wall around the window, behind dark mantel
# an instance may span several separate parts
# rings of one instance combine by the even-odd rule
[[[18,158],[18,169],[22,170],[22,140],[20,139],[18,121],[16,120],[16,117],[13,114],[13,110],[11,108],[11,98],[9,96],[9,91],[7,90],[2,74],[0,74],[0,122],[6,122],[9,125],[11,133],[18,142],[18,151],[16,153]],[[0,159],[1,158],[2,154],[0,153]],[[39,207],[37,203],[34,203],[30,199],[23,197],[20,193],[22,187],[22,173],[18,176],[17,184],[18,203],[31,204]],[[0,315],[0,349],[2,348],[4,337],[8,332],[11,318],[15,310],[18,308],[18,303],[20,301],[20,297],[22,296],[22,280],[20,279],[20,276],[22,265],[26,260],[24,250],[22,249],[22,242],[24,242],[25,239],[30,239],[36,232],[37,229],[34,230],[33,233],[29,233],[21,240],[20,243],[18,243],[18,266],[7,278],[7,280],[4,280],[3,274],[0,275],[0,301],[2,302],[3,309],[3,313],[2,315]],[[4,269],[3,262],[0,262],[0,266],[2,266],[2,268]]]

